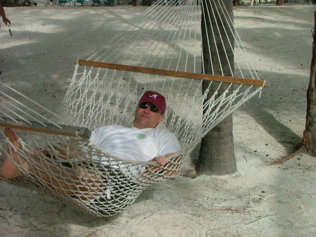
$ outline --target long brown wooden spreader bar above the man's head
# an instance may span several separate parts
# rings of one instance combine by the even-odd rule
[[[131,71],[131,72],[142,72],[142,73],[149,73],[155,75],[164,75],[169,77],[185,77],[190,79],[209,79],[215,82],[228,82],[228,83],[235,83],[235,84],[248,84],[257,87],[263,87],[265,82],[262,80],[256,79],[246,79],[241,77],[224,77],[218,75],[209,75],[209,74],[201,74],[201,73],[193,73],[193,72],[177,72],[171,70],[163,70],[163,69],[156,69],[156,68],[143,68],[143,67],[136,67],[130,65],[122,65],[122,64],[114,64],[114,63],[103,63],[91,60],[77,60],[77,64],[79,65],[86,65],[86,66],[93,66],[98,68],[109,68],[109,69],[117,69],[117,70],[124,70],[124,71]]]

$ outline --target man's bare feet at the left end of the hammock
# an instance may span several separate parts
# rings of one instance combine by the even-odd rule
[[[13,145],[17,148],[20,148],[21,144],[18,142],[18,134],[15,132],[15,130],[6,128],[4,130],[4,135],[8,137],[9,141],[13,143]],[[15,150],[8,146],[8,154],[12,155],[12,158],[17,162],[19,165],[24,166],[25,168],[29,167],[29,164],[25,161],[24,158],[20,157],[17,153],[15,153]],[[1,177],[4,177],[6,179],[14,179],[16,177],[23,176],[24,174],[20,172],[18,167],[16,167],[13,162],[7,157],[1,166]]]

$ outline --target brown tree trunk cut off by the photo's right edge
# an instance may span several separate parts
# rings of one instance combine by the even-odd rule
[[[315,27],[316,27],[316,12],[315,12]],[[316,156],[316,35],[315,27],[312,42],[312,63],[310,64],[310,84],[307,92],[307,110],[306,110],[306,124],[303,133],[302,147],[305,148],[312,156]]]

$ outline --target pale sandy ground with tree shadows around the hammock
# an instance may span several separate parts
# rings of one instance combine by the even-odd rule
[[[144,9],[6,8],[13,36],[1,27],[1,82],[56,108],[74,60],[90,56]],[[315,158],[268,165],[294,152],[303,136],[315,10],[235,8],[239,34],[269,83],[260,99],[234,113],[236,174],[155,184],[106,219],[1,183],[0,236],[316,236]]]

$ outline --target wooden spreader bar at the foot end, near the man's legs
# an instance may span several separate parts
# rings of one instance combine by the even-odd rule
[[[21,129],[31,132],[42,132],[46,134],[56,134],[63,136],[80,136],[84,139],[89,139],[91,136],[91,131],[85,127],[74,127],[68,125],[59,125],[62,129],[56,127],[53,124],[29,121],[31,124],[23,121],[16,120],[17,122],[9,119],[8,117],[0,117],[0,127],[11,127],[13,129]]]

